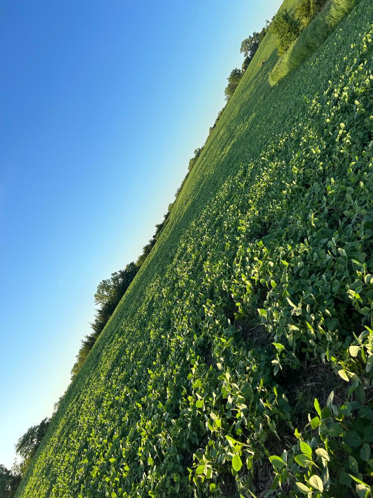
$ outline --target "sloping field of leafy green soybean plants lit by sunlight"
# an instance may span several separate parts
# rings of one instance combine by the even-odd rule
[[[18,497],[369,496],[372,19],[266,36]]]

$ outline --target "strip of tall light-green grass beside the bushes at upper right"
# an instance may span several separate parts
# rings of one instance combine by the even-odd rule
[[[270,73],[270,83],[276,85],[298,68],[324,43],[357,0],[330,0],[325,8],[303,29],[290,48],[280,57]]]

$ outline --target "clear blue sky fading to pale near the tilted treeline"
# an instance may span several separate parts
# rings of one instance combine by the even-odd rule
[[[0,2],[0,463],[49,416],[280,0]]]

